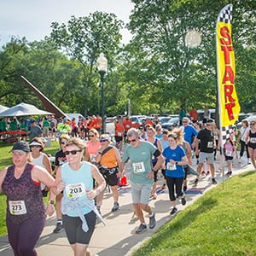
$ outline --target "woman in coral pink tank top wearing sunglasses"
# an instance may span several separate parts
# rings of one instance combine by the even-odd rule
[[[96,152],[101,147],[99,132],[92,128],[89,131],[89,141],[86,143],[85,160],[96,163]]]

